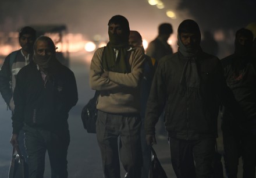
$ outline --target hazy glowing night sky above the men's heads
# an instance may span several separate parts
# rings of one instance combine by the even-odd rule
[[[202,34],[207,30],[214,35],[221,48],[218,56],[223,58],[233,52],[234,32],[256,21],[255,0],[162,0],[162,9],[148,1],[1,0],[0,31],[17,31],[31,24],[66,24],[69,33],[81,34],[87,40],[97,35],[108,41],[108,20],[119,14],[127,17],[130,29],[139,31],[148,42],[156,37],[160,23],[171,23],[171,45],[176,51],[177,26],[184,19],[194,19]],[[166,16],[167,10],[176,17]]]

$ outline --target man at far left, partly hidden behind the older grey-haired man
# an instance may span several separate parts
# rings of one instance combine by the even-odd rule
[[[0,92],[10,111],[14,111],[13,91],[16,83],[16,76],[23,66],[29,64],[33,58],[33,44],[36,38],[36,31],[31,27],[23,27],[19,30],[19,44],[21,49],[9,54],[0,70]],[[26,149],[24,147],[24,133],[21,130],[19,134],[19,148],[25,157]]]

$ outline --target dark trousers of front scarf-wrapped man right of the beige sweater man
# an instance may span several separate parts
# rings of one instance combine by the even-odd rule
[[[215,138],[181,140],[169,137],[170,155],[177,178],[210,178]]]

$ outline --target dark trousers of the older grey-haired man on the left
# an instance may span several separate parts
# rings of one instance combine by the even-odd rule
[[[69,130],[54,133],[24,126],[25,145],[28,155],[29,177],[44,177],[45,153],[48,151],[52,178],[67,177],[67,148]]]

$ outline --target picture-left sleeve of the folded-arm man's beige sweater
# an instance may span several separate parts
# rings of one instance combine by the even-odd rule
[[[102,66],[102,53],[104,48],[98,48],[93,55],[90,65],[89,83],[93,90],[113,90],[121,88],[117,83],[109,80],[108,78],[101,77],[104,73]]]

